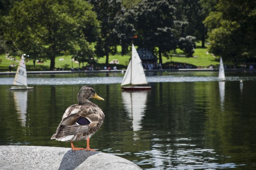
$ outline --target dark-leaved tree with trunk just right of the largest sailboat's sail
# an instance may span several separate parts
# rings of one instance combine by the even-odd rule
[[[178,44],[175,0],[143,0],[134,8],[138,45],[162,54],[175,50]]]

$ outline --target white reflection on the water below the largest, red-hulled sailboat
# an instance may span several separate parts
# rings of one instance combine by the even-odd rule
[[[125,110],[132,119],[134,131],[141,130],[141,120],[143,119],[148,92],[147,91],[122,91],[122,100]]]

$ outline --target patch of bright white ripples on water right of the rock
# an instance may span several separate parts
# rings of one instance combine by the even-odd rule
[[[154,140],[154,139],[153,139]],[[157,139],[159,140],[159,139]],[[188,142],[190,141],[190,142]],[[213,149],[198,148],[192,139],[176,139],[175,144],[153,144],[152,150],[137,153],[137,156],[150,156],[149,159],[138,162],[137,164],[154,164],[154,170],[194,170],[194,169],[218,169],[235,168],[234,163],[219,164],[215,161],[222,159]],[[159,148],[166,147],[166,150]],[[190,149],[194,148],[194,149]]]

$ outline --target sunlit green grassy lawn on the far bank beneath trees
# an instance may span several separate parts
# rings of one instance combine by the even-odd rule
[[[166,57],[163,57],[163,65],[165,63],[170,62],[178,62],[178,63],[184,63],[186,62],[189,65],[194,65],[198,67],[201,65],[202,67],[209,67],[209,65],[219,65],[219,61],[216,60],[214,57],[212,57],[211,54],[207,53],[207,48],[200,48],[199,42],[197,43],[197,48],[195,49],[194,57],[187,58],[187,57],[172,57],[167,59]],[[118,69],[125,69],[128,65],[129,59],[131,54],[127,54],[122,56],[121,55],[121,47],[119,46],[117,48],[117,54],[110,55],[109,56],[109,62],[111,62],[113,59],[117,59],[119,61],[119,65],[116,65]],[[183,51],[177,49],[175,51],[175,54],[183,54]],[[72,60],[70,56],[58,56],[55,58],[55,68],[64,68],[65,70],[70,70],[72,65]],[[0,59],[2,59],[2,62],[0,63],[0,71],[9,71],[9,65],[18,65],[20,57],[16,57],[16,60],[10,60],[5,57],[5,54],[0,55]],[[104,67],[105,66],[105,60],[106,58],[99,58],[98,63],[96,66]],[[32,60],[29,60],[26,62],[26,67],[28,71],[43,71],[43,70],[49,70],[50,60],[44,61],[44,63],[35,63],[35,67]],[[84,66],[87,65],[87,62],[84,63]],[[82,63],[80,64],[80,68],[82,67]],[[114,66],[114,65],[107,65],[107,66]],[[78,68],[79,63],[76,63],[73,61],[73,68]],[[12,67],[12,70],[15,71],[17,69],[17,66]]]

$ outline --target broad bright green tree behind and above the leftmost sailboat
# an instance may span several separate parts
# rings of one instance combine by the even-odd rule
[[[83,0],[16,2],[5,17],[5,24],[6,39],[20,51],[33,55],[42,52],[42,57],[50,59],[51,70],[55,68],[56,54],[74,51],[79,41],[93,39],[99,28],[92,6]]]

